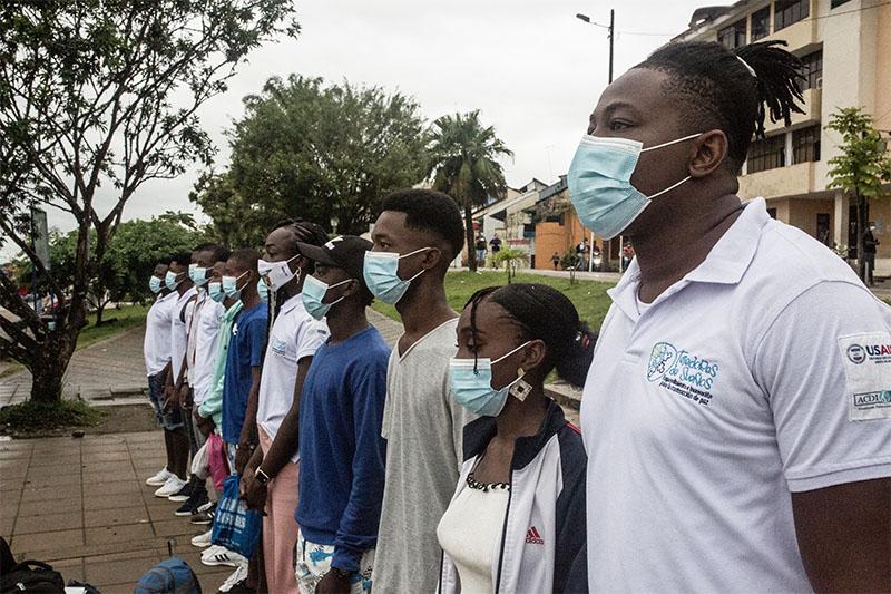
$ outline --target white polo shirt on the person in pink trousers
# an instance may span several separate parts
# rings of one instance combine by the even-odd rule
[[[275,439],[282,420],[294,401],[294,383],[297,380],[297,362],[312,357],[329,337],[327,324],[316,321],[303,306],[297,293],[282,304],[278,317],[272,324],[263,372],[260,377],[260,406],[257,423]],[[291,461],[296,462],[295,454]]]

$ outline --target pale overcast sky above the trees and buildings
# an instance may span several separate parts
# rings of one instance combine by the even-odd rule
[[[616,76],[686,28],[703,0],[626,0],[616,11]],[[726,3],[726,2],[725,2]],[[316,0],[296,1],[300,38],[267,43],[249,56],[225,95],[206,104],[202,121],[225,167],[224,130],[243,114],[242,98],[271,76],[291,72],[344,78],[413,96],[424,117],[480,109],[513,160],[508,184],[550,183],[566,172],[588,114],[607,81],[606,30],[575,18],[609,21],[608,3],[590,0]],[[616,6],[616,4],[614,4]],[[647,35],[634,35],[647,33]],[[125,218],[193,212],[198,171],[149,183],[128,202]],[[50,225],[74,227],[65,213]],[[9,249],[4,250],[9,255]]]

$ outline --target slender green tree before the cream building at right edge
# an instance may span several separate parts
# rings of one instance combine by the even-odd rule
[[[859,107],[845,107],[832,114],[826,129],[842,136],[842,154],[829,159],[830,187],[848,192],[856,205],[856,254],[860,277],[866,280],[863,237],[866,233],[866,208],[870,198],[882,195],[882,183],[891,182],[888,145],[873,126],[872,116]]]

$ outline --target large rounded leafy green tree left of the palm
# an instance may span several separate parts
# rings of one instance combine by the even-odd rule
[[[204,175],[190,195],[233,245],[262,243],[283,218],[364,233],[386,193],[423,177],[424,123],[399,92],[292,75],[244,104],[229,169]]]

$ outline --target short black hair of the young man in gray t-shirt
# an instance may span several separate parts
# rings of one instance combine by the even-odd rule
[[[464,245],[464,225],[454,198],[434,189],[400,189],[383,199],[383,211],[405,213],[405,226],[435,233],[449,244],[449,264]]]

